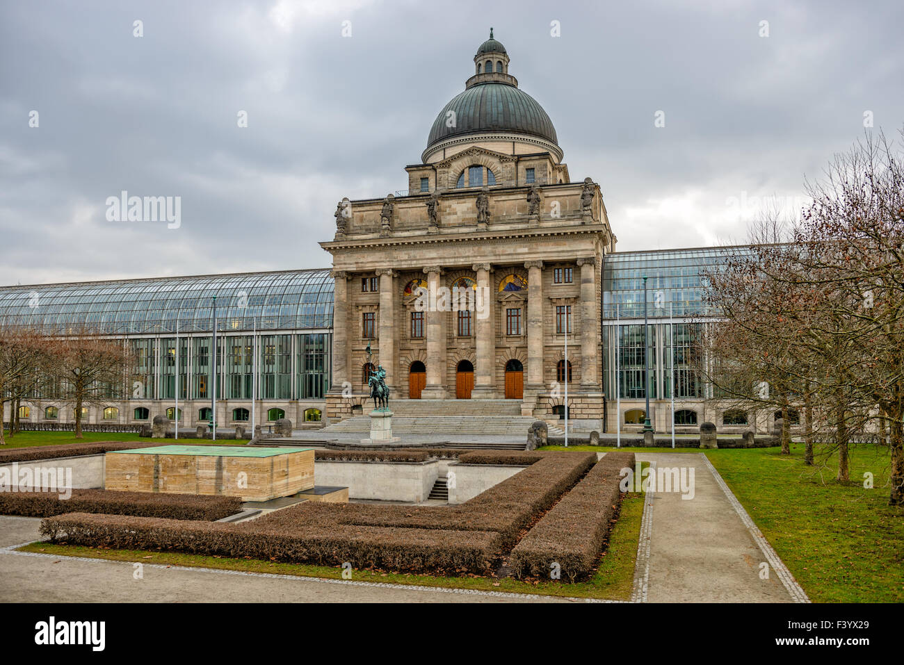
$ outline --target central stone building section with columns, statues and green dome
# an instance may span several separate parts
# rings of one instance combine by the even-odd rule
[[[335,280],[326,417],[366,408],[370,358],[392,399],[517,399],[549,419],[568,378],[570,419],[599,428],[606,206],[591,178],[570,182],[492,33],[474,63],[406,167],[408,192],[340,201],[320,243]]]

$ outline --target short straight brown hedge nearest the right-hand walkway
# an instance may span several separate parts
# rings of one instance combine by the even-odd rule
[[[634,453],[606,454],[512,550],[517,576],[549,576],[553,562],[569,580],[592,570],[621,502],[621,470]]]

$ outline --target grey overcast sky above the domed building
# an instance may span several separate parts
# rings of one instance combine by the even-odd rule
[[[0,284],[328,267],[491,25],[623,251],[743,241],[864,114],[904,123],[899,0],[677,5],[0,0]],[[181,225],[109,221],[123,190]]]

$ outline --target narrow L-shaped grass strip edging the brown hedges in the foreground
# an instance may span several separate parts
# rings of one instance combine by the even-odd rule
[[[583,582],[569,584],[560,581],[522,581],[513,577],[480,576],[443,577],[385,573],[373,570],[353,570],[352,579],[363,582],[391,582],[400,585],[440,586],[481,591],[503,591],[515,594],[558,595],[578,598],[628,600],[634,581],[637,540],[640,520],[644,513],[642,493],[625,495],[618,521],[609,535],[609,543],[593,576]],[[253,573],[275,573],[309,577],[342,577],[340,567],[306,566],[277,563],[257,559],[203,557],[180,552],[160,552],[127,549],[88,548],[75,545],[52,545],[35,542],[20,548],[26,552],[43,552],[62,557],[105,558],[114,561],[164,564],[168,566],[223,568]]]

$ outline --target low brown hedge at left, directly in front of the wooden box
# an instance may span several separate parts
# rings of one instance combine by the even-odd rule
[[[52,517],[67,512],[169,518],[222,520],[241,510],[234,496],[72,490],[69,499],[57,492],[0,492],[0,515]]]

